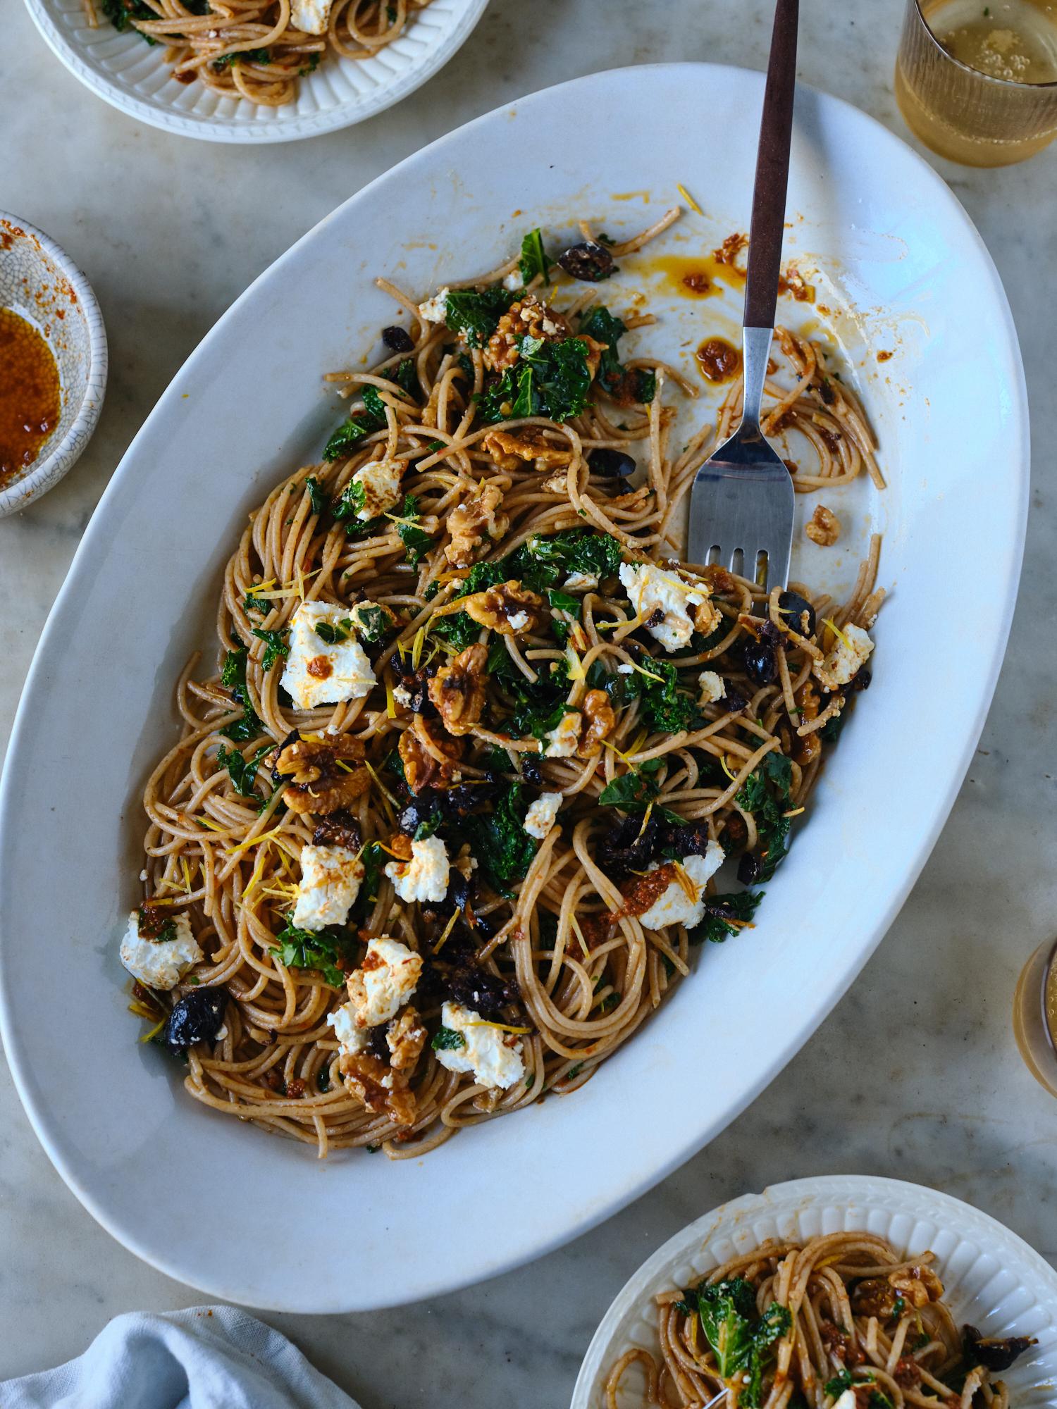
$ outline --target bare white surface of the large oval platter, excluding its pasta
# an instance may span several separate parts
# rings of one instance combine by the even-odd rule
[[[710,249],[747,223],[761,100],[757,73],[637,68],[538,93],[443,138],[252,285],[114,473],[41,640],[0,792],[0,1019],[56,1168],[171,1277],[256,1306],[366,1309],[558,1246],[679,1165],[771,1081],[920,871],[979,735],[1013,609],[1023,375],[998,275],[944,183],[871,118],[802,90],[788,249],[817,302],[784,299],[781,316],[829,327],[840,344],[891,489],[875,495],[863,476],[857,493],[826,496],[846,524],[841,544],[810,548],[798,533],[793,571],[847,581],[874,517],[894,590],[874,685],[757,927],[700,952],[691,979],[582,1092],[421,1161],[319,1162],[217,1116],[183,1093],[178,1067],[137,1044],[125,1013],[117,947],[138,893],[140,795],[175,737],[178,674],[210,641],[248,510],[319,457],[342,416],[321,375],[382,352],[379,330],[397,310],[373,276],[423,297],[493,268],[536,223],[552,248],[581,216],[614,237],[641,228],[678,199],[676,183],[706,214],[688,211],[664,248]],[[724,142],[700,142],[702,111],[729,116]],[[617,310],[636,289],[650,293],[660,321],[636,337],[696,378],[693,345],[733,331],[736,296],[682,299],[651,261],[624,261],[602,293]],[[846,314],[824,313],[837,307]]]

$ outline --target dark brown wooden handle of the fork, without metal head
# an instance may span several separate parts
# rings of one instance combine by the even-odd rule
[[[764,116],[753,192],[753,227],[746,275],[747,328],[772,328],[782,266],[785,192],[789,185],[793,90],[796,87],[796,24],[799,0],[778,0],[767,65]]]

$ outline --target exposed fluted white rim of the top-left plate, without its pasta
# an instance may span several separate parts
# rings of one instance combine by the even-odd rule
[[[147,44],[131,30],[118,34],[101,0],[94,0],[94,25],[85,0],[25,4],[70,73],[130,117],[207,142],[290,142],[352,127],[407,97],[462,48],[488,0],[433,0],[373,58],[328,55],[314,73],[297,80],[297,96],[283,107],[224,97],[202,83],[178,83],[165,46]]]

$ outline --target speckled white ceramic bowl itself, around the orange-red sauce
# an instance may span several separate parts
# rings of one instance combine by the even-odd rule
[[[0,489],[0,519],[70,469],[92,438],[107,385],[107,335],[92,285],[54,240],[0,210],[0,309],[31,323],[59,369],[59,424],[37,459]]]

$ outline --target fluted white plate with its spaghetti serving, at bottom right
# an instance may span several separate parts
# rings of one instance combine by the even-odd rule
[[[572,1409],[1032,1409],[1057,1378],[1057,1274],[936,1189],[833,1175],[747,1193],[630,1278]]]

